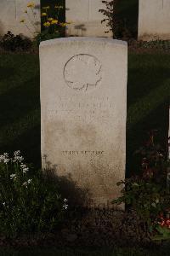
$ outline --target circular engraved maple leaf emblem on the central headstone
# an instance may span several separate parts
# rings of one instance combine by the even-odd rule
[[[92,90],[102,79],[101,63],[93,55],[75,55],[65,64],[64,79],[73,90]]]

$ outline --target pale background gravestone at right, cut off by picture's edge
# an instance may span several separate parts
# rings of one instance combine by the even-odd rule
[[[139,39],[170,39],[170,0],[139,0]]]

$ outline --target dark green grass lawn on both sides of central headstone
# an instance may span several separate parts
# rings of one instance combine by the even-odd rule
[[[40,166],[38,55],[0,55],[0,153],[20,149]],[[127,176],[138,172],[133,152],[150,129],[165,146],[168,129],[170,55],[129,54],[127,83]]]

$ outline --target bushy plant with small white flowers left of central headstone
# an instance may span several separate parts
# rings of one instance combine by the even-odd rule
[[[20,151],[0,155],[0,234],[22,234],[56,229],[67,208],[56,183],[41,170],[23,163]]]

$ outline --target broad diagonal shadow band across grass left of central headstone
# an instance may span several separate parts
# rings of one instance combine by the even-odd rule
[[[1,127],[22,119],[34,109],[40,108],[39,78],[33,77],[24,84],[9,88],[0,95]]]

